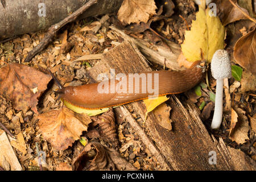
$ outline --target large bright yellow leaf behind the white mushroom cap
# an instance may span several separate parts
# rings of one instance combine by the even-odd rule
[[[191,30],[185,31],[181,50],[188,61],[207,60],[210,63],[214,52],[224,48],[224,38],[225,29],[220,19],[213,16],[209,8],[205,10],[199,6]]]

